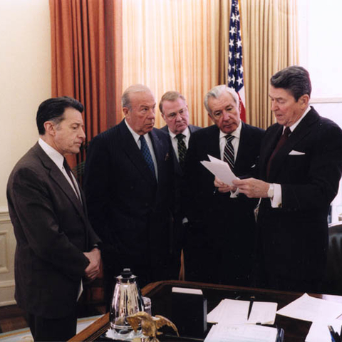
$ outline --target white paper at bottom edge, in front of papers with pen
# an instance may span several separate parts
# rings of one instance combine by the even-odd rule
[[[234,324],[212,326],[204,342],[275,342],[278,331],[269,326]]]

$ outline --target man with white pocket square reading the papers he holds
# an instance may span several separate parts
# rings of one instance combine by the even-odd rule
[[[261,197],[261,286],[318,291],[326,266],[328,208],[342,170],[342,131],[309,106],[309,73],[290,66],[271,77],[269,97],[277,123],[261,145],[261,180],[237,181]]]

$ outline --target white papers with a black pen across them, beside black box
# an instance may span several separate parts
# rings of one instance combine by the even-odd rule
[[[251,314],[247,319],[249,303],[249,301],[223,299],[214,310],[209,312],[207,321],[225,325],[231,323],[274,324],[278,304],[254,301]]]

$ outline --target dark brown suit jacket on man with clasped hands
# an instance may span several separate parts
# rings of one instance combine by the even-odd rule
[[[68,316],[89,264],[83,252],[100,242],[86,207],[38,142],[11,172],[7,199],[17,242],[17,303],[36,316]]]

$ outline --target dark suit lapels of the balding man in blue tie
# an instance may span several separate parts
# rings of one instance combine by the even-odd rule
[[[137,143],[135,142],[132,133],[130,133],[130,130],[128,130],[124,120],[121,121],[121,123],[119,124],[119,132],[122,137],[120,141],[123,142],[122,147],[128,159],[133,163],[133,165],[135,165],[135,167],[139,170],[139,172],[143,175],[143,177],[145,177],[150,182],[155,183],[155,177],[153,177],[152,172],[147,165],[147,162],[142,156],[142,153]],[[155,152],[155,155],[156,155],[156,152]],[[157,155],[156,155],[156,158],[157,158]]]

